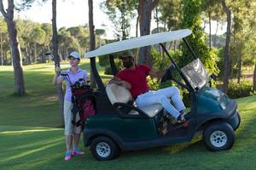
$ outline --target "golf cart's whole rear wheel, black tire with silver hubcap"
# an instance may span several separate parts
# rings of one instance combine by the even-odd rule
[[[119,156],[119,147],[112,139],[105,136],[93,139],[90,144],[90,151],[98,161],[108,161]]]

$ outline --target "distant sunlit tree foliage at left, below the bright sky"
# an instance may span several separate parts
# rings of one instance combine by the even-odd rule
[[[20,41],[21,57],[23,65],[33,64],[32,61],[48,62],[49,59],[44,55],[45,52],[52,50],[52,25],[48,23],[39,24],[32,20],[15,20],[18,37]],[[96,29],[97,31],[97,29]],[[9,37],[7,26],[0,17],[0,32],[3,45],[3,65],[11,64]],[[100,29],[96,35],[96,43],[104,43],[105,41],[99,37],[104,34],[104,30]],[[84,54],[89,49],[89,32],[87,26],[73,26],[70,28],[62,27],[58,31],[59,54],[62,59],[66,59],[67,54],[72,50],[78,50]],[[1,54],[1,53],[0,53]],[[34,59],[36,55],[37,59]],[[1,57],[0,57],[1,58]],[[1,62],[1,59],[0,59]]]

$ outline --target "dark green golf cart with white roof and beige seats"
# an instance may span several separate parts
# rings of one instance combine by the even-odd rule
[[[94,91],[96,115],[90,116],[84,125],[84,146],[90,146],[93,156],[99,161],[119,156],[121,150],[141,150],[190,142],[202,136],[209,150],[229,150],[234,144],[235,131],[240,124],[236,102],[211,88],[211,77],[189,46],[185,37],[192,32],[188,29],[168,31],[153,35],[113,42],[86,53],[90,59],[92,74],[96,79]],[[168,54],[164,42],[183,39],[195,59],[179,68]],[[96,56],[108,54],[113,75],[117,73],[113,54],[121,51],[160,44],[171,60],[162,81],[172,79],[191,96],[191,106],[186,123],[173,122],[160,104],[138,108],[130,92],[116,84],[104,85],[96,69]],[[172,76],[177,70],[183,81]]]

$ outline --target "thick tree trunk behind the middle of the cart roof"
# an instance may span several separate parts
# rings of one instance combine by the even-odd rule
[[[138,7],[140,35],[145,36],[150,34],[151,13],[159,0],[140,0]],[[148,64],[152,66],[152,56],[150,46],[140,48],[139,59],[140,64]]]

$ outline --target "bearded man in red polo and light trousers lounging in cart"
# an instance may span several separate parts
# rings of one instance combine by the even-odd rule
[[[136,65],[133,54],[124,52],[120,54],[120,59],[125,67],[124,70],[110,80],[109,83],[116,83],[130,90],[137,107],[158,103],[163,105],[177,122],[184,122],[183,101],[180,98],[178,88],[162,88],[157,91],[150,90],[147,77],[162,77],[165,71],[153,71],[148,65]],[[169,102],[172,99],[172,104]]]

